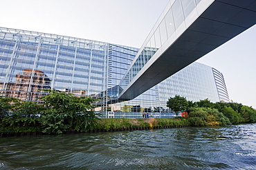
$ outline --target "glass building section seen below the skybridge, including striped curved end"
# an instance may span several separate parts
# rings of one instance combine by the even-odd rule
[[[229,102],[221,72],[208,65],[192,63],[133,100],[113,105],[121,108],[120,113],[116,112],[119,117],[141,118],[143,113],[148,112],[154,118],[170,118],[175,114],[167,108],[166,103],[175,95],[193,102],[206,98],[213,103],[221,100]]]

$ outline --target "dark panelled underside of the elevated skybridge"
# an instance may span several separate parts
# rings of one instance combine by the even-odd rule
[[[140,70],[119,98],[136,98],[255,23],[256,1],[214,1],[163,54]]]

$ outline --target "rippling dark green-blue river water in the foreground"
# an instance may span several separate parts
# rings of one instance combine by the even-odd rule
[[[0,138],[0,169],[256,169],[256,124]]]

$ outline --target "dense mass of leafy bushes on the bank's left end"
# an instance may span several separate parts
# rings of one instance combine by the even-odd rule
[[[91,111],[92,98],[77,98],[72,94],[49,89],[38,103],[15,98],[0,98],[0,134],[42,131],[62,134],[66,131],[89,131],[98,125]]]

